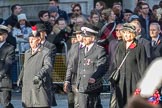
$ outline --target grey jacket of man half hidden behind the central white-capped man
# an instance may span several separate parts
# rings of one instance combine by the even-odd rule
[[[72,85],[75,85],[77,81],[78,59],[79,42],[73,44],[68,52],[68,62],[65,81],[70,82],[70,84]]]

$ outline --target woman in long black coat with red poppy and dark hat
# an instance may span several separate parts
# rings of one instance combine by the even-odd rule
[[[123,42],[117,47],[114,67],[118,68],[126,53],[129,54],[120,69],[120,79],[114,86],[114,93],[111,98],[111,108],[123,108],[128,97],[136,89],[137,82],[143,76],[147,66],[147,56],[144,46],[135,40],[135,27],[130,23],[125,23],[121,31]]]

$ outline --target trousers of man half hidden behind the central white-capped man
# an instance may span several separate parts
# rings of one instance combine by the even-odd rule
[[[76,86],[72,85],[72,91],[68,93],[68,108],[79,108],[78,92]]]

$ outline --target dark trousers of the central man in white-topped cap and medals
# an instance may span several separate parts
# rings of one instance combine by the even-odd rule
[[[102,108],[100,94],[79,93],[79,108]]]

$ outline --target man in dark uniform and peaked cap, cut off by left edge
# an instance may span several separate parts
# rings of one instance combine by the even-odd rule
[[[9,28],[0,25],[0,103],[3,108],[13,108],[11,101],[11,67],[15,59],[14,46],[6,42]]]

